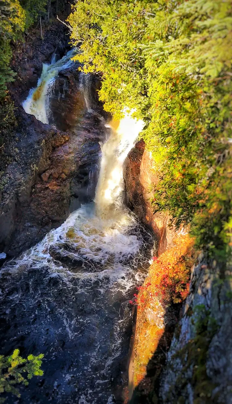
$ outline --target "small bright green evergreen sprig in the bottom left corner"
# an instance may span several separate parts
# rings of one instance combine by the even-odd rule
[[[44,374],[41,370],[43,353],[38,356],[29,355],[27,359],[23,359],[19,356],[19,349],[15,349],[10,356],[0,355],[0,394],[12,393],[17,397],[20,397],[19,391],[15,388],[15,385],[22,383],[28,385],[28,380],[33,376],[42,376]],[[23,373],[27,373],[27,378],[23,376]],[[3,403],[6,399],[0,398],[0,403]]]

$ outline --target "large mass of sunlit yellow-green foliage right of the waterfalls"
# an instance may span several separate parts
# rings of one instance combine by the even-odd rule
[[[136,108],[159,183],[153,208],[191,224],[196,244],[231,252],[232,8],[229,0],[84,0],[68,22],[84,72],[118,118]]]

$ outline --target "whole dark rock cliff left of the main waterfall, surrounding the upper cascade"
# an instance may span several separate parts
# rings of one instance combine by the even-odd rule
[[[56,79],[50,98],[51,124],[42,124],[21,107],[35,87],[42,63],[52,55],[62,57],[68,48],[63,25],[50,26],[41,41],[36,34],[19,46],[13,59],[17,80],[10,86],[15,101],[17,127],[5,148],[7,156],[0,187],[0,252],[14,256],[36,244],[69,213],[93,198],[97,179],[99,141],[104,140],[104,118],[99,114],[92,76],[92,103],[88,114],[80,90],[80,73],[72,65]],[[4,148],[1,148],[4,157]]]

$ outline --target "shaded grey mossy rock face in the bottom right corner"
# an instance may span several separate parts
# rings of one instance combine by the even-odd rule
[[[231,272],[200,254],[167,353],[159,398],[167,404],[232,402]]]

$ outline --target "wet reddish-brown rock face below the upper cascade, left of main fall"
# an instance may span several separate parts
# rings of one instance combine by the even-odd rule
[[[30,119],[27,135],[17,145],[20,160],[8,165],[0,203],[0,250],[10,256],[36,244],[70,211],[93,198],[98,142],[105,136],[101,121],[93,134],[77,129],[68,135]],[[91,120],[82,119],[91,128]]]

